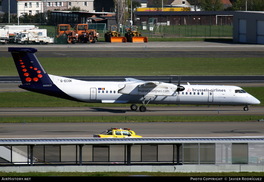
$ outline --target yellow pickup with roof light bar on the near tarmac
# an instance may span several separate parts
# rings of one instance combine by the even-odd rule
[[[106,132],[106,134],[102,134]],[[94,138],[140,138],[142,136],[136,135],[134,131],[131,131],[130,128],[111,128],[102,132],[100,135],[93,135]]]

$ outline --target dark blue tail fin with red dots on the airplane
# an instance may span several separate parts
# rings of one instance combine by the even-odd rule
[[[22,84],[52,84],[34,52],[34,48],[8,47],[11,52]]]

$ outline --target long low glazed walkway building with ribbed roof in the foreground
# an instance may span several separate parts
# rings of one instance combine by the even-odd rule
[[[1,165],[111,166],[114,163],[177,166],[182,172],[262,172],[264,165],[263,137],[0,139],[0,149],[2,171],[7,170]],[[194,166],[199,170],[194,170]]]

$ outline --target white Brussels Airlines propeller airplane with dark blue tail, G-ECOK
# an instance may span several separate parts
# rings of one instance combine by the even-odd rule
[[[174,85],[126,78],[125,82],[87,82],[46,73],[34,48],[9,47],[22,85],[19,88],[54,97],[90,103],[130,103],[131,110],[146,111],[151,104],[243,106],[260,101],[243,89],[225,85]]]

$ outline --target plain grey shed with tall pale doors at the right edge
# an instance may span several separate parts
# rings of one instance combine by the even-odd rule
[[[233,41],[264,44],[264,12],[234,11]]]

